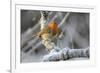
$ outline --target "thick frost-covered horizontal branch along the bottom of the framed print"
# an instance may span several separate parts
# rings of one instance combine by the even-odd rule
[[[43,57],[43,61],[59,61],[71,58],[89,58],[89,48],[85,49],[53,49],[48,55]]]

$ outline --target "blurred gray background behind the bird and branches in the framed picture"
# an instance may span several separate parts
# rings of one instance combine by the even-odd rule
[[[56,40],[56,45],[60,48],[81,49],[89,47],[89,13],[75,12],[48,12],[48,22],[55,20],[64,36]],[[39,20],[41,17],[40,11],[21,10],[21,62],[41,62],[44,55],[48,51],[41,44],[41,40],[37,37],[32,37],[40,31]]]

